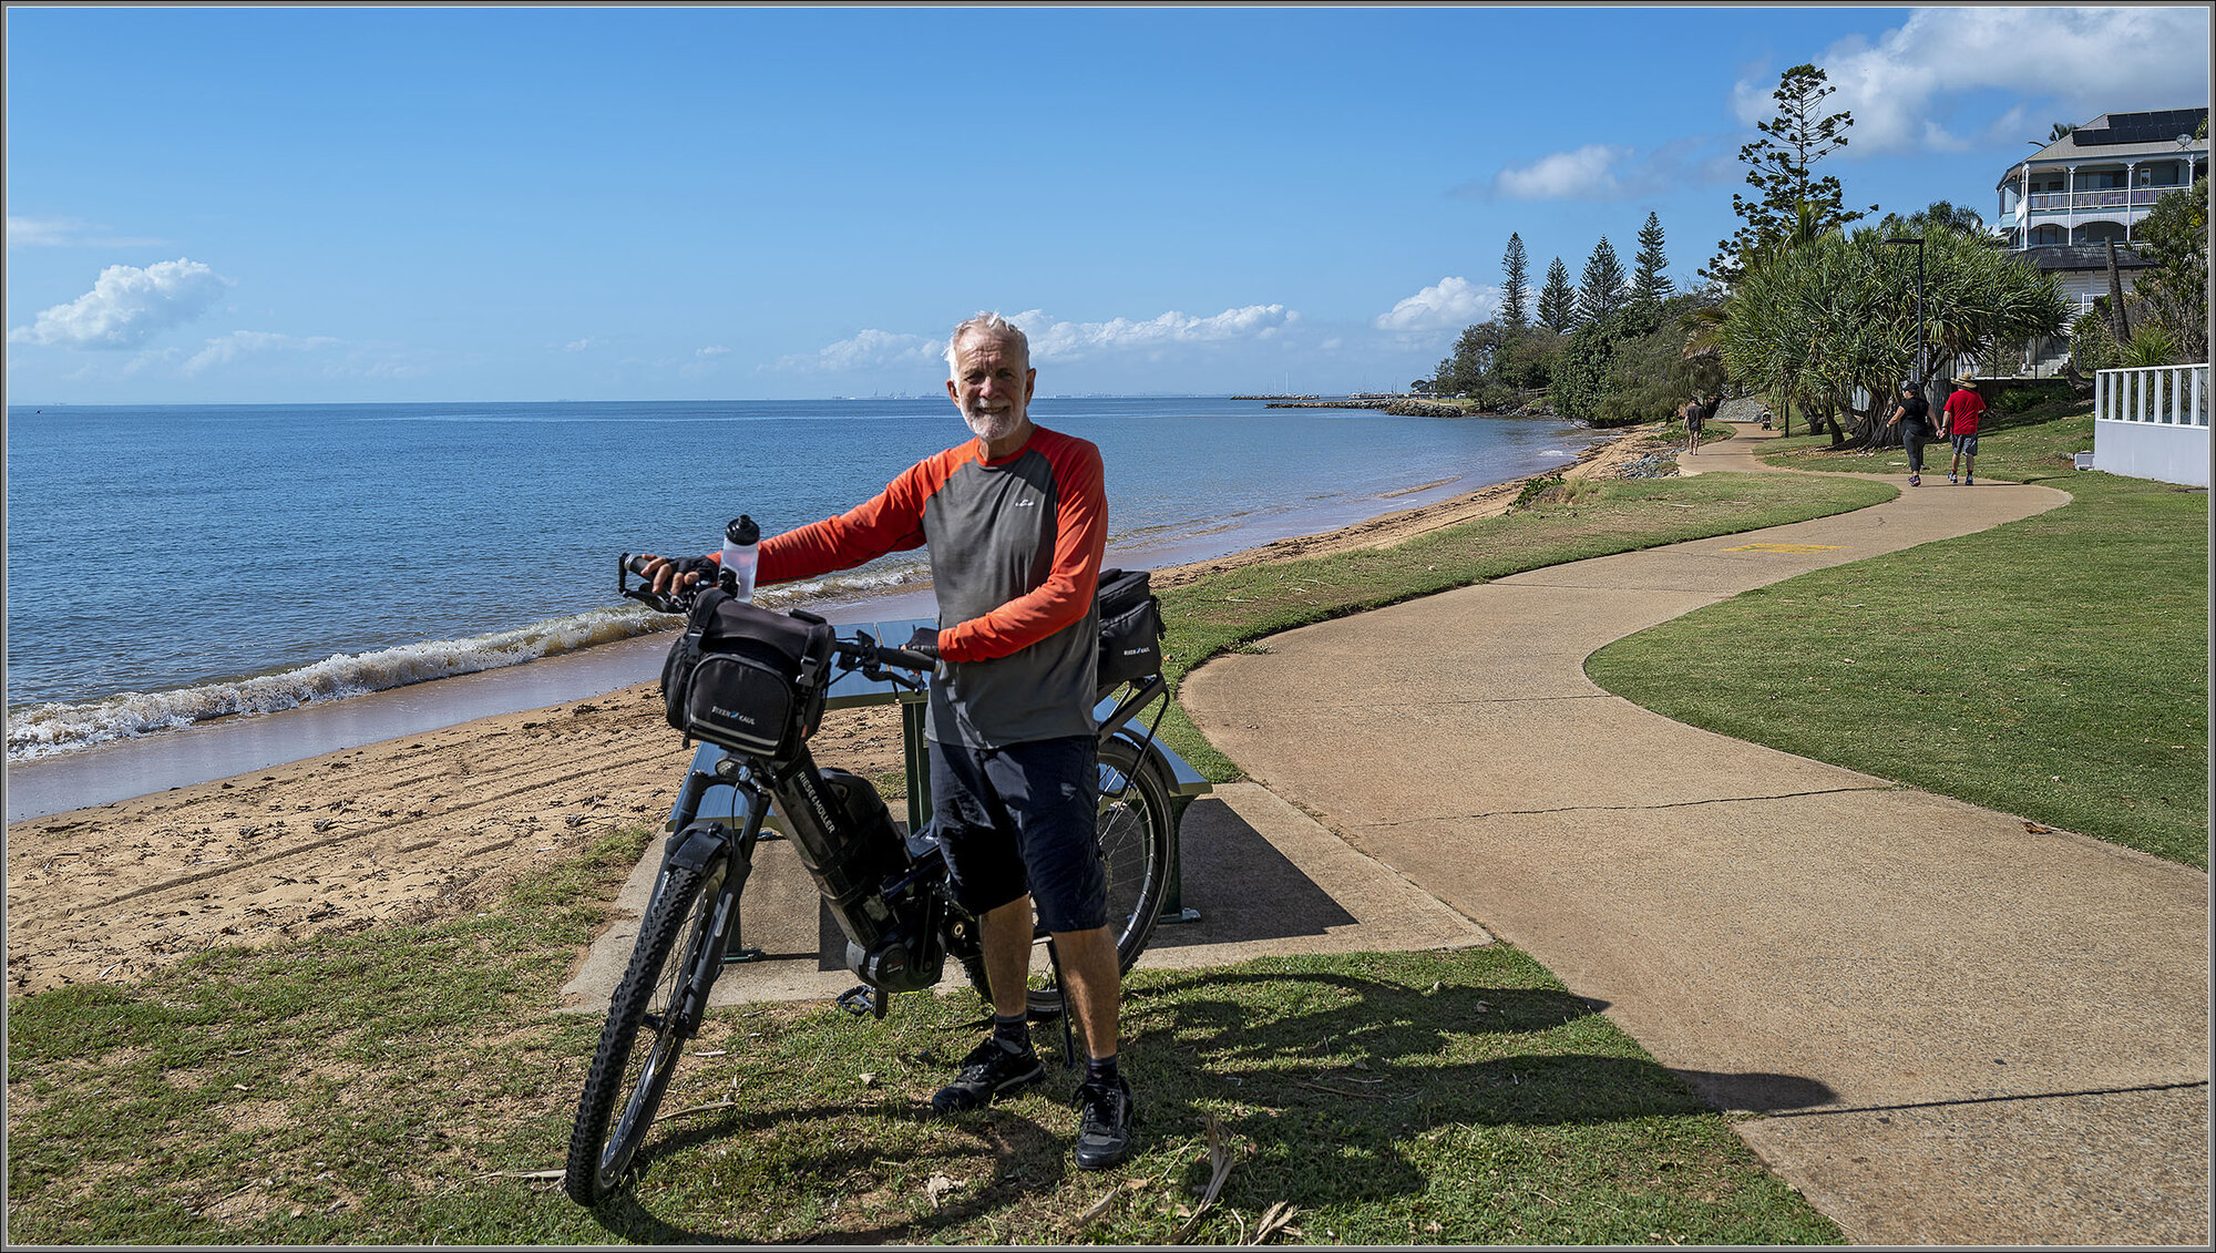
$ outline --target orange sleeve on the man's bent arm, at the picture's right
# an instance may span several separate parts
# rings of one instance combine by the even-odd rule
[[[1037,445],[1035,445],[1037,447]],[[984,662],[1019,653],[1055,631],[1084,622],[1108,547],[1108,489],[1092,443],[1059,436],[1039,447],[1055,467],[1055,565],[1046,582],[999,609],[940,629],[948,662]]]

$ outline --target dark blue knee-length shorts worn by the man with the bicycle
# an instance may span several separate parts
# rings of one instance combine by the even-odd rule
[[[1030,892],[1048,932],[1108,925],[1108,872],[1095,835],[1090,735],[1004,748],[931,742],[931,819],[973,914]]]

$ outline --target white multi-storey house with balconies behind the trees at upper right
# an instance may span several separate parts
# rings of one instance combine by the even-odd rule
[[[2103,113],[2043,144],[2001,175],[1994,230],[2010,248],[2054,275],[2079,310],[2107,294],[2107,244],[2125,292],[2145,261],[2134,252],[2138,226],[2163,193],[2207,173],[2207,108]],[[2037,139],[2028,139],[2037,144]]]

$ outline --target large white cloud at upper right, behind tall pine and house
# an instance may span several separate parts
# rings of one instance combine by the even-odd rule
[[[1952,131],[1932,126],[1950,95],[2001,91],[2050,102],[2048,122],[2092,122],[2101,113],[2192,108],[2209,97],[2205,7],[2116,9],[1917,9],[1877,42],[1844,40],[1815,64],[1839,91],[1826,113],[1848,111],[1846,153],[1955,151]],[[1742,80],[1733,108],[1753,126],[1777,111],[1777,80]],[[2021,122],[2021,115],[2019,115]],[[1972,122],[1970,131],[1990,133]],[[2037,133],[2032,133],[2037,131]],[[2017,131],[2045,139],[2048,124]]]

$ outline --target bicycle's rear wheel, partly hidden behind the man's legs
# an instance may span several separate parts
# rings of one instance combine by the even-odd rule
[[[1170,894],[1170,850],[1177,830],[1170,793],[1146,768],[1139,746],[1110,739],[1099,750],[1099,801],[1095,835],[1108,872],[1108,932],[1115,934],[1117,972],[1130,970],[1155,934],[1161,901]],[[1044,983],[1044,985],[1042,985]],[[1046,970],[1046,952],[1033,954],[1030,1012],[1061,1012],[1061,990]]]

